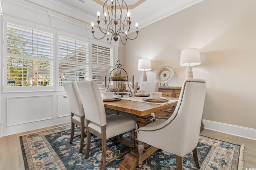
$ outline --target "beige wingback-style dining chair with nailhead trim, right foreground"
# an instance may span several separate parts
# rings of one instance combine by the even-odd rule
[[[185,80],[172,116],[167,120],[158,119],[138,129],[139,168],[142,168],[143,143],[176,154],[177,170],[183,170],[182,156],[193,151],[196,167],[200,168],[196,146],[205,94],[205,80]]]

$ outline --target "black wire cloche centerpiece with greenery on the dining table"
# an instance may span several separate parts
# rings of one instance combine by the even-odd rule
[[[109,83],[108,83],[108,87],[109,87],[110,81],[118,81],[118,82],[120,82],[120,87],[118,87],[118,88],[120,89],[121,97],[123,97],[123,92],[124,92],[123,88],[124,88],[124,86],[122,85],[122,82],[127,82],[129,90],[126,90],[126,92],[131,92],[131,93],[129,94],[129,96],[132,97],[133,93],[132,93],[131,88],[130,88],[129,83],[128,83],[128,75],[127,75],[126,70],[124,70],[123,68],[121,68],[121,67],[122,67],[122,64],[120,63],[119,60],[116,62],[116,65],[115,65],[115,66],[116,66],[116,68],[114,68],[114,69],[110,72],[109,81],[108,81],[108,82],[109,82]],[[121,71],[121,70],[123,70],[126,75],[122,75],[122,71]],[[113,77],[111,77],[112,73],[114,73],[114,74],[113,74]],[[108,91],[108,87],[107,87],[107,91]],[[126,87],[126,88],[127,88],[127,87]],[[134,87],[132,87],[132,88],[134,88]]]

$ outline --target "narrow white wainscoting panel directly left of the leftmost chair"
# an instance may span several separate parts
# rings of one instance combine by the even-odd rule
[[[58,95],[58,116],[57,117],[70,116],[68,99],[64,98],[63,96],[64,94]]]

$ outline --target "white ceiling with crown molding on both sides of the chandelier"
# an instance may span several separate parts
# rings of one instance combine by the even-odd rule
[[[97,12],[101,12],[102,5],[97,2],[104,0],[24,0],[47,10],[59,12],[82,21],[86,24],[96,23]],[[119,0],[120,1],[120,0]],[[137,6],[130,9],[130,20],[132,24],[138,23],[138,28],[145,27],[151,23],[170,16],[180,10],[188,8],[202,0],[125,0],[128,5],[139,2]],[[141,3],[142,2],[142,3]],[[132,26],[132,25],[131,25]],[[134,31],[131,29],[130,31]]]

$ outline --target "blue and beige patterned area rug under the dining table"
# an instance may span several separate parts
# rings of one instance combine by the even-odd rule
[[[79,133],[79,127],[75,133]],[[129,133],[125,134],[129,137]],[[96,138],[96,137],[94,137]],[[79,153],[80,139],[75,138],[69,144],[70,126],[58,127],[46,131],[20,136],[20,144],[26,170],[98,170],[100,169],[101,148],[90,152],[85,159],[85,148]],[[93,139],[92,139],[93,140]],[[84,141],[86,143],[86,139]],[[92,143],[97,145],[98,143]],[[111,149],[124,152],[128,147],[118,142],[108,143]],[[200,136],[198,156],[201,170],[241,170],[243,168],[244,145],[235,145],[209,137]],[[107,150],[107,159],[115,156]],[[118,164],[124,159],[117,159],[105,166],[106,170],[119,170]],[[192,152],[183,156],[185,170],[198,170]],[[176,170],[176,156],[158,150],[143,162],[144,170]],[[138,170],[138,167],[136,168]]]

